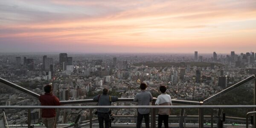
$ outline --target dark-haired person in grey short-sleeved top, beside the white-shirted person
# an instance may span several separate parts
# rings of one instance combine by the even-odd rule
[[[134,102],[138,102],[138,105],[149,105],[150,101],[153,100],[153,96],[151,95],[150,92],[146,92],[147,84],[146,83],[141,83],[140,84],[140,89],[141,92],[136,94],[134,98]],[[145,119],[145,125],[146,128],[149,128],[149,108],[138,108],[138,117],[137,117],[137,125],[136,128],[140,128],[143,116]]]

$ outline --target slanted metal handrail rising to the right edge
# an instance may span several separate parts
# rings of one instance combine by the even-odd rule
[[[252,80],[255,80],[255,79],[256,79],[256,75],[252,75],[252,76],[250,76],[250,77],[248,77],[248,78],[246,78],[246,79],[244,79],[244,80],[242,80],[242,81],[240,81],[240,82],[238,82],[238,83],[236,83],[236,84],[234,84],[234,85],[232,85],[232,86],[222,90],[221,92],[219,92],[219,93],[217,93],[217,94],[215,94],[215,95],[205,99],[203,103],[205,105],[205,104],[211,102],[212,100],[222,96],[224,93],[227,93],[227,92],[235,89],[236,87],[239,87],[239,86],[241,86],[243,84],[246,84],[246,83],[248,83],[248,82],[250,82]]]

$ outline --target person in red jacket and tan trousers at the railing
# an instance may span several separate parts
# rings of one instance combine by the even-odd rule
[[[44,95],[39,97],[39,101],[41,102],[42,106],[59,106],[60,101],[59,99],[52,95],[52,85],[48,84],[44,86]],[[56,128],[55,126],[55,116],[56,111],[55,109],[42,109],[42,121],[46,128]]]

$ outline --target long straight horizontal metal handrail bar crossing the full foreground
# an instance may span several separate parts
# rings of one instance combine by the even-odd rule
[[[256,105],[149,105],[149,106],[0,106],[0,108],[5,109],[29,109],[29,108],[81,108],[81,109],[90,109],[90,108],[256,108]]]

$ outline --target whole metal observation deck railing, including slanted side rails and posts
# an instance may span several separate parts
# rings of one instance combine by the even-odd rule
[[[251,81],[255,81],[254,82],[254,105],[206,105],[208,104],[209,102],[211,101],[214,101],[215,99],[217,99],[218,97],[222,96],[223,94],[241,86],[241,85],[244,85],[244,84],[247,84]],[[15,90],[18,90],[20,92],[23,92],[23,93],[26,93],[28,94],[29,96],[32,96],[33,98],[36,98],[38,99],[39,98],[39,94],[37,93],[34,93],[30,90],[27,90],[23,87],[20,87],[18,86],[17,84],[14,84],[10,81],[7,81],[5,79],[1,79],[0,78],[0,85],[2,86],[5,86],[5,87],[11,87],[11,88],[14,88]],[[70,109],[70,108],[77,108],[77,109],[89,109],[90,111],[90,120],[87,121],[86,123],[82,123],[82,124],[79,124],[78,126],[81,126],[81,128],[85,128],[85,127],[82,127],[82,126],[85,126],[85,125],[89,125],[89,128],[93,128],[93,120],[96,120],[96,119],[93,119],[93,109],[96,109],[96,108],[112,108],[112,109],[124,109],[124,108],[150,108],[151,109],[151,128],[156,128],[156,122],[157,122],[157,115],[156,115],[156,110],[157,108],[173,108],[173,109],[197,109],[198,110],[198,115],[186,115],[186,118],[188,117],[194,117],[197,118],[195,120],[198,120],[197,122],[198,123],[195,123],[194,122],[194,125],[193,124],[189,124],[189,123],[186,123],[184,122],[184,115],[180,114],[180,116],[176,116],[177,118],[179,118],[179,123],[178,123],[178,127],[179,128],[184,128],[185,125],[187,125],[187,127],[199,127],[199,128],[204,128],[204,127],[210,127],[210,128],[213,128],[215,127],[215,125],[218,127],[218,128],[222,128],[221,126],[218,126],[218,124],[214,124],[213,120],[218,118],[220,118],[220,116],[218,117],[215,117],[213,115],[213,113],[210,113],[209,115],[204,115],[204,110],[206,109],[211,109],[211,111],[213,111],[213,109],[220,109],[220,108],[253,108],[254,111],[256,111],[256,93],[255,93],[255,88],[256,88],[256,75],[252,75],[236,84],[234,84],[233,86],[231,87],[228,87],[227,89],[209,97],[208,99],[204,100],[203,102],[195,102],[195,101],[186,101],[186,100],[177,100],[177,99],[173,99],[172,102],[173,102],[173,105],[174,106],[154,106],[154,102],[156,100],[156,98],[154,98],[154,100],[152,101],[152,106],[0,106],[0,108],[4,108],[4,109],[28,109],[28,123],[27,123],[27,127],[30,128],[31,126],[31,109],[34,109],[34,108],[62,108],[62,109]],[[82,99],[82,100],[73,100],[73,101],[61,101],[61,104],[62,105],[70,105],[70,104],[82,104],[82,103],[91,103],[91,102],[94,102],[92,99]],[[133,102],[133,98],[119,98],[117,102]],[[249,111],[248,111],[249,112]],[[127,116],[116,116],[116,117],[127,117]],[[136,116],[131,116],[131,117],[134,117],[136,118]],[[175,118],[175,116],[170,116],[172,119]],[[256,115],[254,114],[254,117],[256,117]],[[209,119],[210,120],[210,126],[206,125],[207,123],[204,124],[204,118],[205,119]],[[240,125],[241,127],[236,127],[236,128],[244,128],[246,126],[246,119],[245,118],[238,118],[238,117],[228,117],[227,118],[230,118],[231,120],[242,120],[242,124]],[[192,121],[193,122],[193,121]],[[256,118],[253,119],[253,122],[256,122]],[[189,126],[188,126],[189,125]],[[67,128],[70,128],[70,127],[73,127],[74,125],[72,126],[67,126]],[[253,128],[256,128],[255,125],[250,125],[250,126],[253,126]],[[227,127],[230,127],[231,126],[227,126]],[[10,126],[10,128],[12,128]],[[79,127],[76,127],[76,128],[79,128]]]

